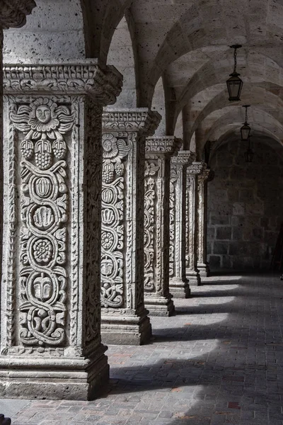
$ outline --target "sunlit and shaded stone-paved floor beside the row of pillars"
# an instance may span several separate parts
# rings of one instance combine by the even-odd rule
[[[152,319],[152,344],[110,346],[107,397],[31,401],[13,425],[282,425],[283,282],[212,277],[192,293]]]

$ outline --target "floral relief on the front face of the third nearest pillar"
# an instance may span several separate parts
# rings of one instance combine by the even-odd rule
[[[156,223],[156,175],[159,166],[154,162],[145,163],[144,180],[144,290],[151,292],[155,290],[154,283],[154,234]]]

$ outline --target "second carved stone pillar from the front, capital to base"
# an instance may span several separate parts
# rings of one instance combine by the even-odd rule
[[[101,305],[107,344],[145,344],[144,149],[160,115],[149,109],[103,113]]]

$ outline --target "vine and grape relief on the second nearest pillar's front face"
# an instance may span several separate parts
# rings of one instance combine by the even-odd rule
[[[101,304],[122,307],[124,293],[125,165],[130,140],[105,133],[103,147]]]

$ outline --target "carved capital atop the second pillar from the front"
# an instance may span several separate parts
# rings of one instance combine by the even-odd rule
[[[102,117],[103,131],[143,132],[153,135],[160,123],[161,115],[149,108],[110,109],[105,108]]]

